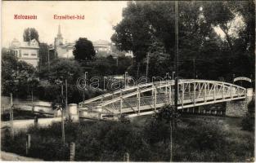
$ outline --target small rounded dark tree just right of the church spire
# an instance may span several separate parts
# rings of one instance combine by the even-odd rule
[[[95,54],[96,53],[92,46],[92,42],[89,41],[87,38],[79,37],[79,40],[76,41],[74,45],[74,59],[78,60],[79,62],[85,60],[92,60]]]

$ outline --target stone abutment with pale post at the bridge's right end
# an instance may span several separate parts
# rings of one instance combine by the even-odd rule
[[[248,112],[248,104],[253,98],[253,88],[247,89],[245,100],[228,101],[226,104],[226,116],[245,117]]]

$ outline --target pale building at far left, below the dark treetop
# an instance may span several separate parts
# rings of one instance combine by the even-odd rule
[[[23,60],[28,64],[32,64],[34,68],[38,67],[39,61],[39,45],[33,39],[30,42],[19,42],[16,38],[11,42],[11,51],[14,51],[18,60]]]

